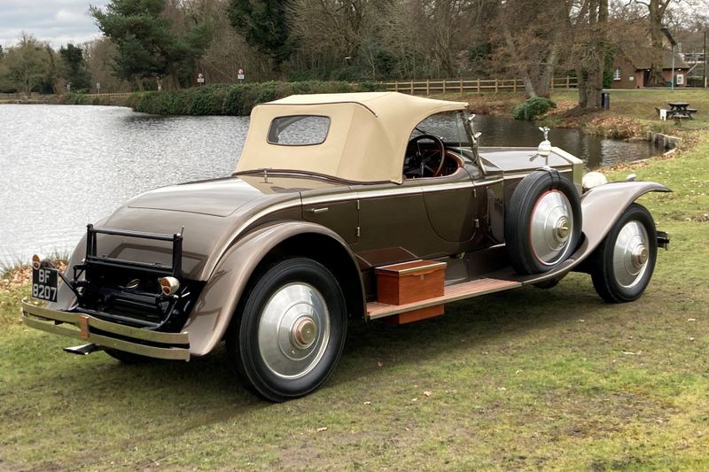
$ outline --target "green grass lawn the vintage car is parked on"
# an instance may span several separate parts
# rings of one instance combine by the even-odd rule
[[[672,247],[636,302],[572,274],[440,319],[355,323],[330,381],[281,405],[222,350],[137,366],[61,352],[72,340],[19,323],[27,284],[3,282],[0,470],[707,470],[709,132],[693,135],[632,169],[675,190],[641,199]]]

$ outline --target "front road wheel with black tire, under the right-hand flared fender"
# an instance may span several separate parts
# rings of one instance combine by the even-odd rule
[[[633,251],[641,251],[637,245],[634,245],[633,239],[623,243],[622,248],[617,248],[616,245],[621,232],[624,233],[622,243],[627,240],[627,232],[637,228],[644,230],[644,234],[640,231],[641,234],[637,237],[644,239],[643,246],[647,249],[646,262],[640,265],[642,256],[632,255]],[[623,255],[627,256],[622,257]],[[598,295],[608,303],[625,303],[640,298],[650,283],[657,258],[658,234],[655,221],[643,205],[631,204],[613,223],[611,231],[605,236],[603,242],[588,257],[593,286]],[[638,272],[633,275],[635,270]]]

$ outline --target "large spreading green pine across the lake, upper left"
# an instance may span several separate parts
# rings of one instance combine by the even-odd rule
[[[179,89],[180,76],[191,74],[211,42],[211,30],[206,23],[195,23],[176,31],[165,10],[165,0],[113,0],[105,12],[90,7],[98,28],[116,44],[116,75],[125,80],[167,76]]]

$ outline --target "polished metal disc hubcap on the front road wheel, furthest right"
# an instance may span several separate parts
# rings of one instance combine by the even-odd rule
[[[620,229],[613,246],[613,274],[620,285],[635,286],[645,274],[650,259],[650,241],[645,227],[629,221]]]

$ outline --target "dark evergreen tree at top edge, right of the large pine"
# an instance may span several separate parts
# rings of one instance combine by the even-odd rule
[[[273,58],[277,71],[292,52],[287,4],[286,0],[231,0],[227,10],[231,25],[246,43]]]

